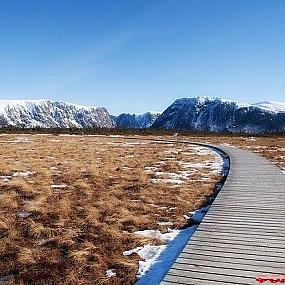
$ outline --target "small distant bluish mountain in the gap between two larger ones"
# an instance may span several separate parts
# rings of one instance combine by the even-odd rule
[[[144,114],[120,114],[112,116],[117,128],[120,129],[144,129],[149,128],[161,113],[147,112]]]

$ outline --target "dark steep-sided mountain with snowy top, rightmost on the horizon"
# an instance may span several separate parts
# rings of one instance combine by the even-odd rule
[[[285,103],[249,105],[220,98],[183,98],[169,106],[152,127],[202,132],[284,132]]]

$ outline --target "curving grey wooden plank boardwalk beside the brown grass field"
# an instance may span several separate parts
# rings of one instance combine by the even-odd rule
[[[285,175],[256,154],[221,149],[230,174],[163,285],[259,284],[260,274],[285,274]]]

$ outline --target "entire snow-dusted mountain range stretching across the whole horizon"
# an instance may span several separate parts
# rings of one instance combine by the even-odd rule
[[[285,132],[285,103],[243,104],[220,98],[176,100],[162,114],[111,116],[104,107],[51,100],[0,100],[0,127],[162,128],[198,132]]]

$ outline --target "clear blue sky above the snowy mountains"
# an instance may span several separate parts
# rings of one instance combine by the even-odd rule
[[[0,97],[162,111],[285,101],[284,0],[0,0]]]

